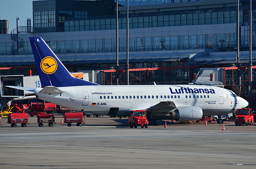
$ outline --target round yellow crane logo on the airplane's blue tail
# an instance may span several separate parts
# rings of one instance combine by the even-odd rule
[[[47,56],[41,61],[41,70],[46,74],[53,74],[57,70],[57,62],[51,57]]]

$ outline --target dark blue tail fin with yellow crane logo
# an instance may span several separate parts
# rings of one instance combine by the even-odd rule
[[[71,75],[42,38],[29,38],[42,88],[98,85]]]

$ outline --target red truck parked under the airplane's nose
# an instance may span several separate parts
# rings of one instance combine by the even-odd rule
[[[252,114],[252,109],[238,109],[237,114],[235,118],[235,125],[241,126],[242,124],[245,124],[246,126],[250,125],[252,126],[254,122],[254,116]]]

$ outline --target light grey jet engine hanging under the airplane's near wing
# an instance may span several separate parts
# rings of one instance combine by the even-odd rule
[[[169,117],[178,122],[196,121],[203,117],[203,110],[198,106],[179,107]]]

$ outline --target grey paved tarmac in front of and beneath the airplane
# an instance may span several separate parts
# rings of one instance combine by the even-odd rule
[[[158,121],[130,128],[128,118],[85,118],[83,127],[0,125],[0,169],[255,169],[256,125]]]

